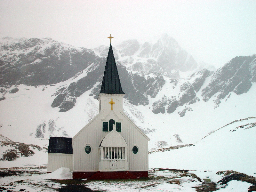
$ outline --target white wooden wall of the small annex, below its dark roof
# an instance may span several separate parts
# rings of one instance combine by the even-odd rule
[[[53,172],[61,167],[73,169],[73,154],[48,153],[47,172]]]

